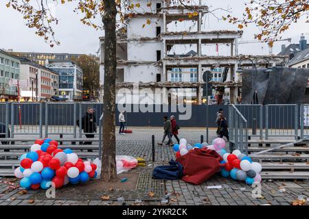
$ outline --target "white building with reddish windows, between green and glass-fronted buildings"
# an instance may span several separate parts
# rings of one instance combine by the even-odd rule
[[[25,57],[21,60],[21,101],[49,101],[58,96],[58,73]]]

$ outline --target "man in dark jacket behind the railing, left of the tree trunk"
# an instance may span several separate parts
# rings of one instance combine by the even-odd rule
[[[84,117],[82,117],[82,129],[86,138],[94,138],[94,132],[97,132],[94,110],[89,107]],[[84,142],[84,144],[92,144],[92,142]]]

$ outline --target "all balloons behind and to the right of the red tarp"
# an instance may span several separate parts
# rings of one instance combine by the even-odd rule
[[[214,150],[222,157],[221,164],[224,164],[224,167],[220,170],[222,177],[231,177],[235,180],[245,181],[248,185],[254,182],[260,183],[262,181],[260,175],[262,165],[258,162],[252,162],[249,156],[241,153],[239,150],[227,153],[225,144],[224,139],[216,138],[212,141],[211,145],[203,142],[192,146],[187,143],[187,140],[182,138],[179,144],[174,144],[173,149],[176,152],[176,158],[186,155],[194,149]]]

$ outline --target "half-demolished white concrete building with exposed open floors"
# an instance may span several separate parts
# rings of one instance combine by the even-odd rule
[[[240,60],[247,67],[252,67],[251,60],[262,66],[282,66],[286,61],[286,56],[280,55],[240,55],[238,40],[242,31],[202,29],[209,12],[202,1],[186,6],[162,0],[132,3],[139,3],[139,7],[126,14],[125,26],[117,30],[117,103],[124,101],[124,96],[126,103],[145,99],[148,104],[172,103],[175,96],[182,96],[186,103],[224,103],[218,101],[218,96],[227,103],[237,103],[242,92],[242,75],[237,73]],[[175,27],[184,22],[193,28]],[[183,46],[190,51],[184,53]],[[209,47],[215,52],[209,53]],[[220,53],[222,47],[228,51],[224,55]],[[100,51],[103,99],[104,37],[100,38]],[[263,62],[265,58],[269,63]],[[205,72],[210,75],[207,75],[210,92],[205,92]],[[133,93],[134,86],[146,90]],[[162,91],[159,98],[149,95],[156,89]]]

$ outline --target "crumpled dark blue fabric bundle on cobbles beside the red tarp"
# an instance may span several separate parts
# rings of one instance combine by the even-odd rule
[[[183,177],[183,166],[174,160],[170,161],[170,166],[157,166],[153,172],[154,179],[181,179]]]

